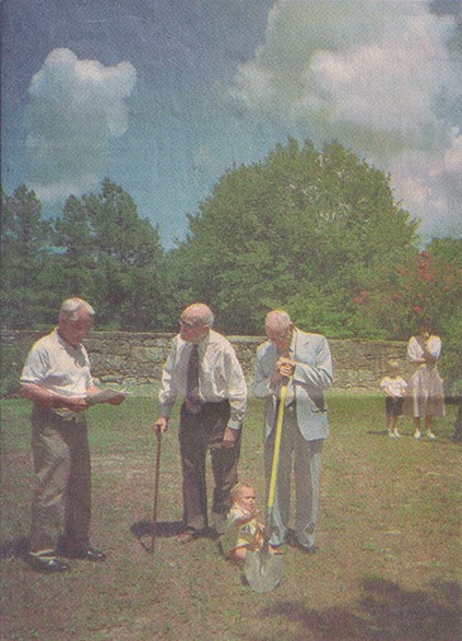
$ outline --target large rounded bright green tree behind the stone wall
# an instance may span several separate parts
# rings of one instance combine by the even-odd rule
[[[283,306],[312,330],[360,335],[353,295],[416,246],[416,228],[383,173],[337,143],[289,140],[222,177],[176,260],[190,266],[185,290],[227,332],[261,333],[264,312]]]

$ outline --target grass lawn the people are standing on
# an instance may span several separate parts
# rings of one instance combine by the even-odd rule
[[[281,584],[258,594],[216,544],[188,546],[181,520],[176,422],[162,440],[158,538],[137,533],[152,518],[154,394],[91,409],[93,543],[105,563],[73,561],[46,577],[20,558],[34,487],[29,404],[3,401],[1,601],[3,641],[459,641],[460,444],[455,407],[436,442],[384,431],[383,399],[333,392],[323,453],[318,553],[287,548]],[[262,404],[252,401],[240,478],[263,506]],[[211,487],[211,485],[209,485]],[[134,533],[133,533],[134,531]]]

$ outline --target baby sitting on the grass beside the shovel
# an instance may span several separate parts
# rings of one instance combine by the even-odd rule
[[[248,549],[260,549],[263,545],[264,526],[257,520],[256,492],[251,485],[238,483],[230,491],[233,506],[228,512],[222,541],[227,559],[242,562]]]

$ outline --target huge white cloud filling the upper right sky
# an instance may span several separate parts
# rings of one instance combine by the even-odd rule
[[[317,143],[336,139],[390,171],[425,236],[460,234],[461,61],[455,28],[423,0],[279,0],[233,99]]]

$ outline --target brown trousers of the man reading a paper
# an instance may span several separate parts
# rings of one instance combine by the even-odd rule
[[[91,462],[86,417],[63,419],[34,406],[32,451],[37,486],[32,502],[31,550],[56,550],[60,537],[70,549],[88,545]]]

